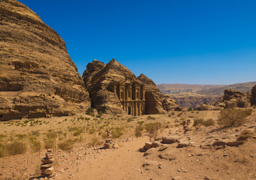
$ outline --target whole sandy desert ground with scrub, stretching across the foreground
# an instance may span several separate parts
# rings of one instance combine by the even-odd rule
[[[0,122],[0,179],[44,179],[39,167],[48,147],[53,149],[56,172],[49,179],[255,179],[255,109],[239,127],[221,127],[217,123],[219,114],[220,111],[184,111],[92,117],[83,113]],[[197,118],[211,118],[215,124],[193,126]],[[185,132],[182,122],[187,119],[191,123]],[[147,124],[156,122],[161,123],[161,128],[152,136]],[[136,131],[136,127],[143,130]],[[107,129],[112,129],[118,148],[103,149]],[[239,145],[211,143],[231,142],[245,129],[249,129],[251,136]],[[180,139],[139,151],[146,142],[154,138],[161,142],[167,135]],[[17,140],[26,145],[24,153],[11,155],[3,151]],[[71,143],[59,146],[67,140]],[[182,142],[187,146],[178,147]]]

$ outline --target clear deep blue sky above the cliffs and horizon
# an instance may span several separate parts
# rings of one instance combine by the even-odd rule
[[[116,59],[156,84],[256,81],[256,1],[21,0],[83,74]]]

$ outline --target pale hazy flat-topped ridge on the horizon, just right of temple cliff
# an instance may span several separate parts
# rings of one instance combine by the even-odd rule
[[[201,85],[201,84],[158,84],[157,87],[165,94],[195,93],[197,91],[222,87],[225,85]]]

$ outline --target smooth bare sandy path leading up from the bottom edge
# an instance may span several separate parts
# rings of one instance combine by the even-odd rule
[[[75,162],[72,160],[67,164],[71,166],[67,169],[69,173],[60,174],[56,178],[63,179],[72,174],[75,179],[149,179],[146,173],[141,173],[146,157],[138,151],[147,141],[149,138],[145,136],[125,142],[119,149],[102,149],[100,153],[85,155]]]

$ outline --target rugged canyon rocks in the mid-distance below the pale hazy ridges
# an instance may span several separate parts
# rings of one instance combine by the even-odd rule
[[[195,108],[205,102],[214,104],[219,100],[219,96],[201,95],[197,93],[179,93],[179,94],[168,94],[171,99],[174,99],[177,104],[184,108]]]

